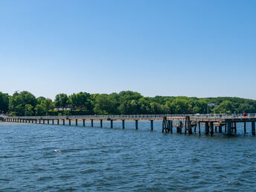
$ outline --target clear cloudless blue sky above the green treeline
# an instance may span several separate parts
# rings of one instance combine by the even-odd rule
[[[256,99],[255,0],[0,0],[0,92]]]

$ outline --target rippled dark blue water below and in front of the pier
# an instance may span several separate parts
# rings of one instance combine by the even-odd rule
[[[0,123],[0,191],[256,189],[256,140],[243,124],[232,137],[162,134],[156,121],[153,132],[149,121],[79,124]]]

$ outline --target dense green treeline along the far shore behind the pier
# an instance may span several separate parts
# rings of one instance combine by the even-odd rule
[[[8,95],[0,92],[0,111],[9,115],[135,115],[207,113],[215,103],[216,113],[256,112],[256,100],[239,97],[144,97],[138,92],[112,94],[58,94],[54,100],[30,92]],[[209,113],[214,107],[209,107]]]

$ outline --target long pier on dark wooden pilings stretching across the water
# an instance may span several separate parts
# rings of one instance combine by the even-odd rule
[[[135,121],[135,129],[138,129],[138,121],[150,121],[150,129],[153,130],[153,121],[162,121],[162,132],[176,132],[192,134],[198,129],[199,135],[202,134],[201,126],[205,128],[206,135],[214,135],[214,132],[226,132],[231,135],[237,132],[237,123],[243,123],[243,132],[246,133],[246,124],[252,124],[252,135],[255,135],[256,114],[251,113],[245,116],[243,114],[189,114],[189,115],[68,115],[68,116],[7,116],[0,115],[1,121],[29,123],[29,124],[68,124],[74,121],[91,121],[94,127],[94,121],[100,121],[100,127],[103,127],[103,121],[110,121],[110,127],[113,128],[113,121],[122,121],[122,128],[125,128],[125,121]],[[224,131],[223,131],[224,127]],[[214,131],[215,128],[215,131]]]

